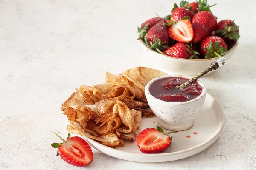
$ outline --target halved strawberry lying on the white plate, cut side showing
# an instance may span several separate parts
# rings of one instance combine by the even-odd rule
[[[172,142],[172,137],[168,136],[167,134],[176,132],[177,131],[163,133],[163,129],[159,126],[157,126],[157,129],[144,129],[137,136],[137,146],[142,153],[163,152],[170,146]]]

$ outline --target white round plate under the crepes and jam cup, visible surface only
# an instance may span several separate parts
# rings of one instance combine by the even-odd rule
[[[195,118],[194,125],[188,130],[172,133],[173,139],[171,147],[162,153],[144,154],[140,152],[136,141],[125,141],[124,147],[116,147],[116,149],[114,149],[99,144],[93,139],[84,136],[83,138],[94,149],[115,158],[137,162],[175,161],[195,155],[209,147],[220,136],[224,122],[225,115],[223,109],[215,98],[207,93],[204,105]],[[156,117],[148,119],[143,117],[140,131],[145,128],[155,128],[156,125],[158,125]],[[163,130],[165,133],[169,132],[169,130]],[[193,134],[193,132],[197,132],[197,135]],[[186,136],[188,135],[191,137],[187,138]]]

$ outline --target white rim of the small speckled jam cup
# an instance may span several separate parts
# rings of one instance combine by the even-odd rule
[[[170,74],[170,75],[164,75],[164,76],[160,76],[160,77],[156,77],[154,79],[152,79],[151,81],[148,82],[148,84],[146,85],[145,87],[145,93],[147,93],[149,96],[151,96],[153,99],[155,100],[160,100],[160,99],[157,99],[155,98],[149,91],[149,88],[150,88],[150,85],[157,81],[157,80],[160,80],[160,79],[163,79],[163,78],[171,78],[171,77],[181,77],[181,78],[187,78],[187,79],[191,79],[192,77],[189,77],[189,76],[183,76],[183,75],[179,75],[179,74]],[[201,85],[201,87],[203,88],[202,90],[202,93],[197,96],[195,99],[192,99],[192,100],[188,100],[186,102],[166,102],[166,101],[163,101],[163,100],[160,100],[161,102],[165,102],[165,103],[169,103],[170,105],[184,105],[184,104],[187,104],[187,103],[192,103],[192,102],[195,102],[197,101],[198,99],[200,99],[202,96],[206,95],[206,87],[205,85],[200,81],[200,80],[196,80],[196,82],[198,82],[199,85]]]

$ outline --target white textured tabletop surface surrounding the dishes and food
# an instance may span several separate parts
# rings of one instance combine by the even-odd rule
[[[195,156],[137,163],[93,150],[84,169],[256,169],[256,1],[208,0],[236,19],[241,42],[229,63],[201,81],[223,106],[219,139]],[[169,14],[173,0],[0,0],[0,169],[82,169],[50,144],[67,135],[60,105],[79,85],[144,66],[137,38],[143,20]],[[178,0],[176,2],[179,2]]]

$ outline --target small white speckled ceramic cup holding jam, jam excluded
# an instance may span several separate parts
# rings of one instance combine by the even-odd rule
[[[186,102],[166,102],[155,98],[151,95],[149,88],[151,84],[159,79],[166,77],[183,77],[190,79],[188,76],[166,75],[152,79],[145,87],[145,94],[151,110],[158,118],[158,123],[168,130],[187,130],[192,127],[195,116],[198,115],[206,96],[206,87],[202,82],[197,80],[203,88],[202,93],[195,99]]]

